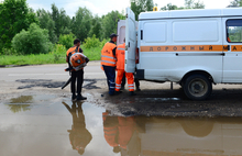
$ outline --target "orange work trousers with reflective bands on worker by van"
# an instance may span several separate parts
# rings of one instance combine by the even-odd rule
[[[123,78],[123,69],[118,69],[118,76],[116,78],[116,91],[120,91],[121,82]],[[130,91],[134,91],[134,85],[133,85],[133,74],[132,73],[125,73],[125,77],[128,79],[128,86]]]

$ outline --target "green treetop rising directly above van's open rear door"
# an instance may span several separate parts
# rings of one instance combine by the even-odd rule
[[[131,2],[131,10],[135,14],[135,20],[141,12],[145,11],[153,11],[154,2],[153,0],[130,0]]]

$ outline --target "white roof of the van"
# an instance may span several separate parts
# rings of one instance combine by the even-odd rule
[[[142,12],[139,21],[142,20],[162,20],[162,19],[187,19],[187,18],[219,18],[219,16],[242,16],[242,8],[224,9],[190,9],[173,11],[152,11]]]

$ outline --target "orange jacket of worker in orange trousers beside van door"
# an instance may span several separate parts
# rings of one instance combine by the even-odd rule
[[[116,56],[117,56],[117,69],[124,70],[125,43],[123,43],[117,47]]]

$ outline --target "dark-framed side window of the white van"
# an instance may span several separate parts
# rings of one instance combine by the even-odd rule
[[[227,41],[242,42],[242,20],[227,21]]]

